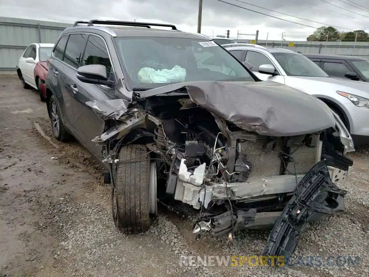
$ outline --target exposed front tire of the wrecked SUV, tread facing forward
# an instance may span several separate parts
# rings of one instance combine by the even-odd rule
[[[119,160],[129,160],[147,153],[146,146],[130,144],[120,149]],[[150,160],[145,156],[138,158],[138,160],[133,160],[132,163],[118,163],[117,167],[115,184],[116,218],[114,222],[115,226],[126,234],[146,232],[150,227]],[[112,205],[113,202],[114,199],[112,199]]]

